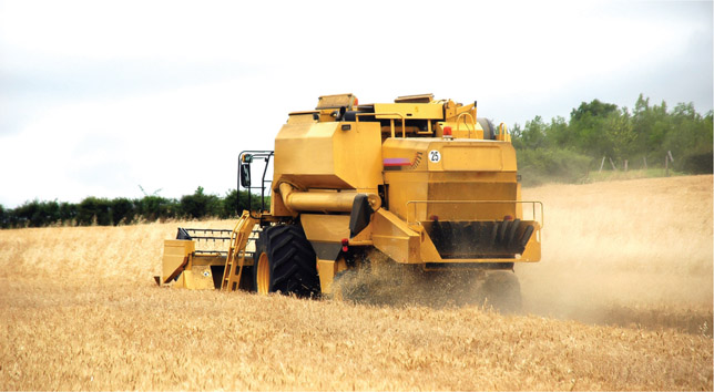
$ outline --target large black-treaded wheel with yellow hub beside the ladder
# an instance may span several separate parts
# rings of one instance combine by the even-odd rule
[[[300,226],[277,225],[264,229],[254,259],[256,291],[316,296],[320,291],[316,260],[315,250]]]

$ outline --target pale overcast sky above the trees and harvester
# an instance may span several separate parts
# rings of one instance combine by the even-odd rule
[[[712,110],[712,2],[1,1],[0,204],[235,187],[323,94]],[[309,157],[306,157],[309,158]]]

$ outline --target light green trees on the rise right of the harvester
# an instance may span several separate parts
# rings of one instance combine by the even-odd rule
[[[712,173],[712,111],[697,113],[692,103],[669,109],[642,94],[634,109],[599,100],[583,102],[570,113],[543,121],[536,116],[511,130],[519,173],[526,185],[559,180],[582,182],[602,167],[664,167],[686,174]],[[610,163],[612,159],[612,163]]]

